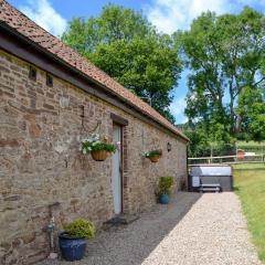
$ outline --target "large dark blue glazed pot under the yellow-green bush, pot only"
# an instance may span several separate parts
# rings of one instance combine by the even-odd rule
[[[84,257],[87,241],[62,233],[59,235],[59,244],[62,257],[65,261],[74,262]]]

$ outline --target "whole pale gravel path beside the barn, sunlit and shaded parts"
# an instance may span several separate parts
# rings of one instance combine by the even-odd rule
[[[65,265],[45,261],[40,265]],[[179,192],[134,223],[102,232],[78,265],[259,265],[237,197]]]

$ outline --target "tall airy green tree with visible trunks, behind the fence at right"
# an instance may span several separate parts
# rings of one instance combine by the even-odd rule
[[[264,14],[247,7],[237,15],[202,13],[181,43],[191,72],[186,109],[190,121],[204,123],[213,138],[236,137],[244,129],[236,115],[239,98],[244,87],[256,91],[265,80]]]

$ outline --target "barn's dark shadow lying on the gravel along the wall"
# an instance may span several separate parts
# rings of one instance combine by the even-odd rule
[[[87,245],[82,265],[140,265],[200,199],[200,193],[179,192],[170,204],[157,204],[128,225],[102,231]],[[40,264],[68,264],[63,261]]]

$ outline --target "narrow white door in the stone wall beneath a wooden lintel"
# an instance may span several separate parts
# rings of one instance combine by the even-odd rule
[[[121,142],[121,127],[114,125],[113,128],[113,141],[114,142]],[[120,168],[121,168],[121,145],[120,148],[116,150],[113,155],[113,177],[112,177],[112,189],[113,189],[113,198],[114,198],[114,212],[115,214],[119,214],[121,212],[121,176],[120,176]]]

